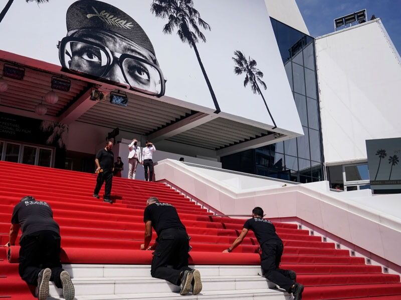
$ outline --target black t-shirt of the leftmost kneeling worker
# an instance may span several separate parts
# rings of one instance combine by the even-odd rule
[[[12,224],[20,224],[23,236],[42,230],[60,234],[59,224],[53,219],[53,211],[44,201],[23,201],[14,207]]]

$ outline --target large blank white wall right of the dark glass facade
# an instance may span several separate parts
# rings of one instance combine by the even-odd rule
[[[316,38],[326,163],[366,159],[366,139],[401,136],[401,59],[375,19]]]

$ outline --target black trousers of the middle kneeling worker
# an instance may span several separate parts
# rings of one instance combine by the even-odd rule
[[[181,271],[192,270],[188,267],[188,234],[183,229],[170,228],[161,231],[157,240],[158,245],[153,252],[150,274],[152,277],[180,285]]]

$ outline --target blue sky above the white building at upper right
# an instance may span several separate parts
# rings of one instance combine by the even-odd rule
[[[401,0],[296,0],[309,33],[320,36],[334,31],[333,19],[366,8],[384,24],[401,53]]]

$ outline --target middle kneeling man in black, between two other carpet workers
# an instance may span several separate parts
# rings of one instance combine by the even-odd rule
[[[156,197],[150,197],[146,201],[143,221],[145,242],[141,245],[141,249],[155,250],[150,269],[152,277],[180,285],[181,295],[186,295],[189,291],[194,295],[198,294],[202,290],[200,272],[188,267],[189,238],[175,207],[160,202]],[[152,227],[157,233],[157,238],[149,247]]]

